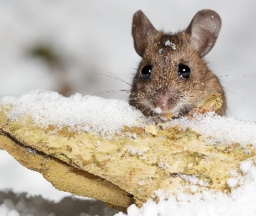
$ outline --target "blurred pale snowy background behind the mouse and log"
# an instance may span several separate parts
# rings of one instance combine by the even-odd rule
[[[128,98],[119,90],[129,86],[108,76],[130,83],[135,73],[140,60],[131,36],[135,11],[142,10],[156,29],[176,31],[202,9],[215,10],[222,18],[220,37],[206,59],[226,89],[227,115],[256,121],[253,0],[1,0],[0,94],[42,88],[66,96],[80,92]],[[10,188],[55,201],[69,195],[4,151],[0,173],[0,191]]]

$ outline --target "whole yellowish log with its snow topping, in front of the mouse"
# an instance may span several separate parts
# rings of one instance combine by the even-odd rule
[[[219,99],[213,94],[194,111],[216,111]],[[229,195],[243,184],[246,166],[241,168],[241,162],[253,162],[255,139],[240,144],[227,136],[221,143],[220,135],[226,133],[222,118],[213,113],[197,117],[189,113],[163,124],[144,118],[121,100],[77,94],[63,98],[42,91],[2,96],[0,149],[60,190],[121,209],[158,200],[154,193],[159,190],[187,197],[205,191]],[[207,129],[207,119],[209,125],[217,123],[215,129]],[[231,118],[223,122],[226,119]],[[197,127],[200,122],[205,130]]]

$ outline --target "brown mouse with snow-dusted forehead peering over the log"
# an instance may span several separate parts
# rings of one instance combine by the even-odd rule
[[[145,116],[186,115],[212,92],[221,94],[225,115],[226,98],[219,79],[203,57],[213,48],[221,28],[213,10],[200,10],[187,29],[164,33],[154,29],[141,10],[133,18],[135,50],[142,58],[132,85],[129,104]]]

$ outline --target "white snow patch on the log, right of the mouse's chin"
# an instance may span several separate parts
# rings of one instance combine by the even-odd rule
[[[237,120],[233,117],[220,117],[213,112],[197,115],[194,118],[174,119],[167,125],[179,125],[181,128],[191,128],[200,133],[207,143],[240,143],[256,145],[256,122]]]

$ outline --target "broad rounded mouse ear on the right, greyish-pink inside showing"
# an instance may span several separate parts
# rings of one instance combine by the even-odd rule
[[[213,48],[221,28],[220,16],[213,10],[200,10],[186,29],[192,35],[192,43],[200,57]]]

